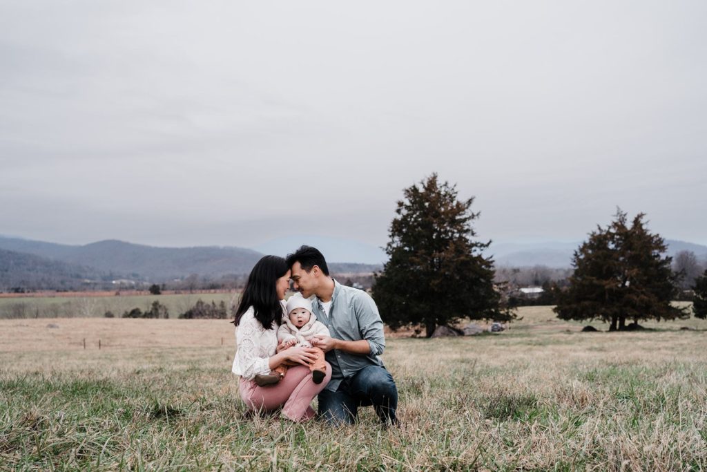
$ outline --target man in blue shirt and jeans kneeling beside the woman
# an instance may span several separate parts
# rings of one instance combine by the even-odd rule
[[[310,246],[287,256],[291,279],[305,298],[312,295],[317,320],[332,336],[315,335],[312,345],[326,352],[332,380],[317,397],[319,413],[333,423],[353,423],[359,406],[373,405],[385,425],[396,425],[397,388],[379,355],[385,349],[383,322],[370,295],[329,276],[322,253]]]

